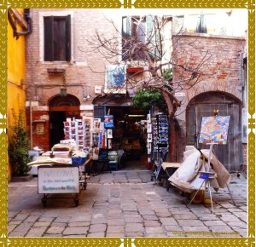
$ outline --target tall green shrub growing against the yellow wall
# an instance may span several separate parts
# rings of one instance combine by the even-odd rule
[[[31,169],[28,163],[32,162],[32,156],[29,155],[30,141],[27,137],[24,121],[24,114],[20,110],[17,116],[12,109],[15,125],[11,126],[12,135],[9,140],[9,162],[13,169],[14,176],[24,176]]]

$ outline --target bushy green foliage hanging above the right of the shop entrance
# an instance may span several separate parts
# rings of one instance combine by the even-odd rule
[[[133,98],[133,106],[149,110],[157,106],[161,111],[166,111],[166,101],[158,89],[139,89]]]

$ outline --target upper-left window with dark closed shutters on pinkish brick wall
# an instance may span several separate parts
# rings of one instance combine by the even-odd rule
[[[44,60],[71,60],[71,16],[44,17]]]

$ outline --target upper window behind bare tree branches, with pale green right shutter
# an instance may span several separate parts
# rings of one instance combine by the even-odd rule
[[[153,60],[160,59],[160,19],[157,16],[125,16],[122,23],[122,60],[145,60],[143,47],[147,44]],[[132,52],[131,52],[132,50]]]

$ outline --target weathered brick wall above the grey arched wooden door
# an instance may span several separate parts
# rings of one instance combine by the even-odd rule
[[[207,62],[201,66],[201,82],[186,93],[186,100],[190,101],[195,95],[207,91],[223,91],[242,101],[239,87],[240,54],[245,48],[243,37],[222,37],[216,35],[188,33],[172,37],[173,60],[177,64],[195,67],[202,57]],[[188,73],[181,68],[173,68],[174,82],[188,78]],[[192,81],[195,82],[195,81]]]

